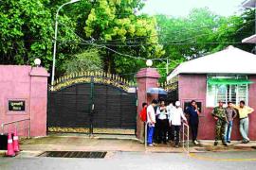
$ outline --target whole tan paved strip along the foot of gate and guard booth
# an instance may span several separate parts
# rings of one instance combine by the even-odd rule
[[[256,147],[255,142],[249,144],[241,144],[241,142],[232,142],[229,146],[219,144],[213,146],[213,141],[201,141],[200,146],[190,144],[191,152],[199,151],[232,151],[232,150],[252,150]],[[35,138],[23,141],[21,144],[23,150],[79,150],[79,151],[150,151],[150,152],[184,152],[182,147],[174,148],[174,144],[159,144],[155,147],[145,148],[144,144],[140,144],[137,139],[131,135],[98,135],[93,138],[81,135],[68,136],[48,136],[44,138]]]

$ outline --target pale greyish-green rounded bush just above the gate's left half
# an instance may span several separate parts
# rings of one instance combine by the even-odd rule
[[[65,75],[76,72],[99,72],[102,71],[102,60],[97,49],[87,49],[64,64]]]

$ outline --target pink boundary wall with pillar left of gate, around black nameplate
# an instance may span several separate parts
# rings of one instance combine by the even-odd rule
[[[46,136],[47,76],[43,67],[0,65],[0,124],[30,118],[30,135]],[[9,100],[25,100],[25,111],[9,111]],[[9,128],[13,131],[7,126],[4,132]],[[27,136],[27,129],[18,128],[18,133]]]

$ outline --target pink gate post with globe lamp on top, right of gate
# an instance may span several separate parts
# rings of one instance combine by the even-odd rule
[[[137,139],[144,142],[144,123],[139,118],[142,103],[150,104],[157,95],[147,95],[149,88],[158,87],[159,73],[155,68],[142,68],[137,72]]]

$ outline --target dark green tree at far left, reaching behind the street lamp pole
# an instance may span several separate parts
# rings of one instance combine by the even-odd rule
[[[48,8],[48,0],[6,0],[0,2],[0,62],[2,64],[32,64],[39,58],[43,66],[52,63],[53,24],[56,10]],[[75,21],[60,16],[61,40],[77,40],[73,34]],[[78,50],[76,43],[58,42],[57,68],[64,59]],[[59,70],[59,69],[58,69]]]

